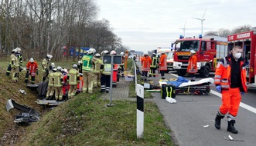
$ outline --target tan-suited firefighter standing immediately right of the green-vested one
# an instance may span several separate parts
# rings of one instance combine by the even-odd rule
[[[94,55],[95,58],[97,58],[97,63],[95,64],[94,68],[94,87],[100,87],[101,86],[101,55],[99,53],[96,53]]]

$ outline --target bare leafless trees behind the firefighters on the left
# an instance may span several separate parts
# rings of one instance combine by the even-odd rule
[[[108,20],[97,20],[97,12],[94,0],[2,0],[0,52],[9,55],[19,47],[25,58],[51,54],[60,59],[63,46],[125,51]]]

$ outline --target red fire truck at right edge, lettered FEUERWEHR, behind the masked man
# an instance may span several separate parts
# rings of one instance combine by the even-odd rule
[[[244,48],[243,57],[246,61],[247,83],[255,85],[256,81],[256,28],[249,32],[241,32],[227,36],[228,48],[232,49],[234,45],[240,45]]]

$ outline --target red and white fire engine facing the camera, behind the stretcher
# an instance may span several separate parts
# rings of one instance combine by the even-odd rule
[[[217,36],[206,36],[199,38],[189,37],[179,39],[172,43],[175,45],[173,58],[173,69],[179,76],[186,75],[186,68],[190,57],[190,50],[196,51],[197,69],[202,77],[208,77],[210,71],[215,71],[216,58],[227,55],[227,38]]]

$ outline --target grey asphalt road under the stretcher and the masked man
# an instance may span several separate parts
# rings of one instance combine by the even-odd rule
[[[166,78],[176,77],[174,72],[166,74]],[[213,78],[213,75],[210,78]],[[160,77],[153,78],[154,83],[157,83],[159,79]],[[196,76],[196,81],[200,79],[202,78]],[[166,125],[172,130],[176,144],[181,146],[255,146],[256,88],[250,88],[248,93],[242,96],[235,124],[238,134],[227,131],[227,116],[222,120],[220,130],[214,127],[214,118],[221,105],[221,98],[214,85],[211,85],[211,89],[210,95],[176,95],[176,104],[169,104],[160,97],[159,92],[152,92],[154,101],[165,118]],[[225,140],[224,138],[228,138],[229,135],[237,141]]]

